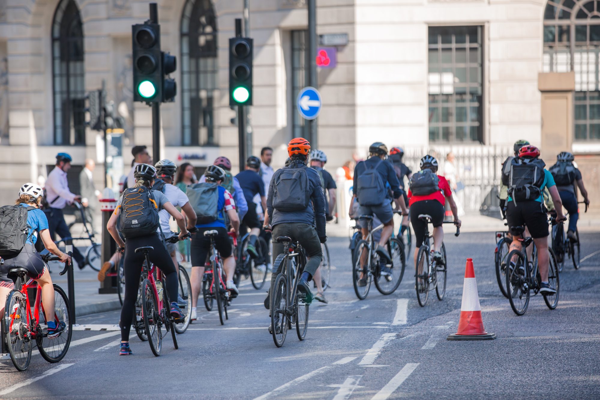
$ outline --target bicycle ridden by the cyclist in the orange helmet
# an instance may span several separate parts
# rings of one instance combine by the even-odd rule
[[[292,238],[280,236],[277,243],[283,243],[283,253],[277,256],[274,271],[280,271],[275,279],[271,295],[271,335],[275,346],[283,346],[287,329],[296,325],[296,335],[303,341],[308,329],[308,305],[306,295],[298,290],[298,281],[304,272],[306,255],[301,244],[292,243]]]

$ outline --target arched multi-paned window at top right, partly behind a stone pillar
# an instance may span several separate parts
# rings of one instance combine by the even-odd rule
[[[548,1],[544,71],[575,72],[575,141],[600,141],[600,1]]]

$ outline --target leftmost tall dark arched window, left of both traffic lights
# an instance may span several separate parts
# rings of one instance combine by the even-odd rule
[[[52,23],[54,144],[85,145],[83,27],[74,0],[61,0]]]

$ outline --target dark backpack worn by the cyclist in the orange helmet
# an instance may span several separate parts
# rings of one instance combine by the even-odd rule
[[[282,168],[273,177],[273,207],[278,211],[306,210],[310,204],[308,167],[296,164]]]

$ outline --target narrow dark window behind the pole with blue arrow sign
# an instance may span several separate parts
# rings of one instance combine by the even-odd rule
[[[296,103],[298,94],[308,82],[308,31],[292,31],[292,98],[290,112],[292,113],[292,137],[308,138],[308,126],[302,118]]]

